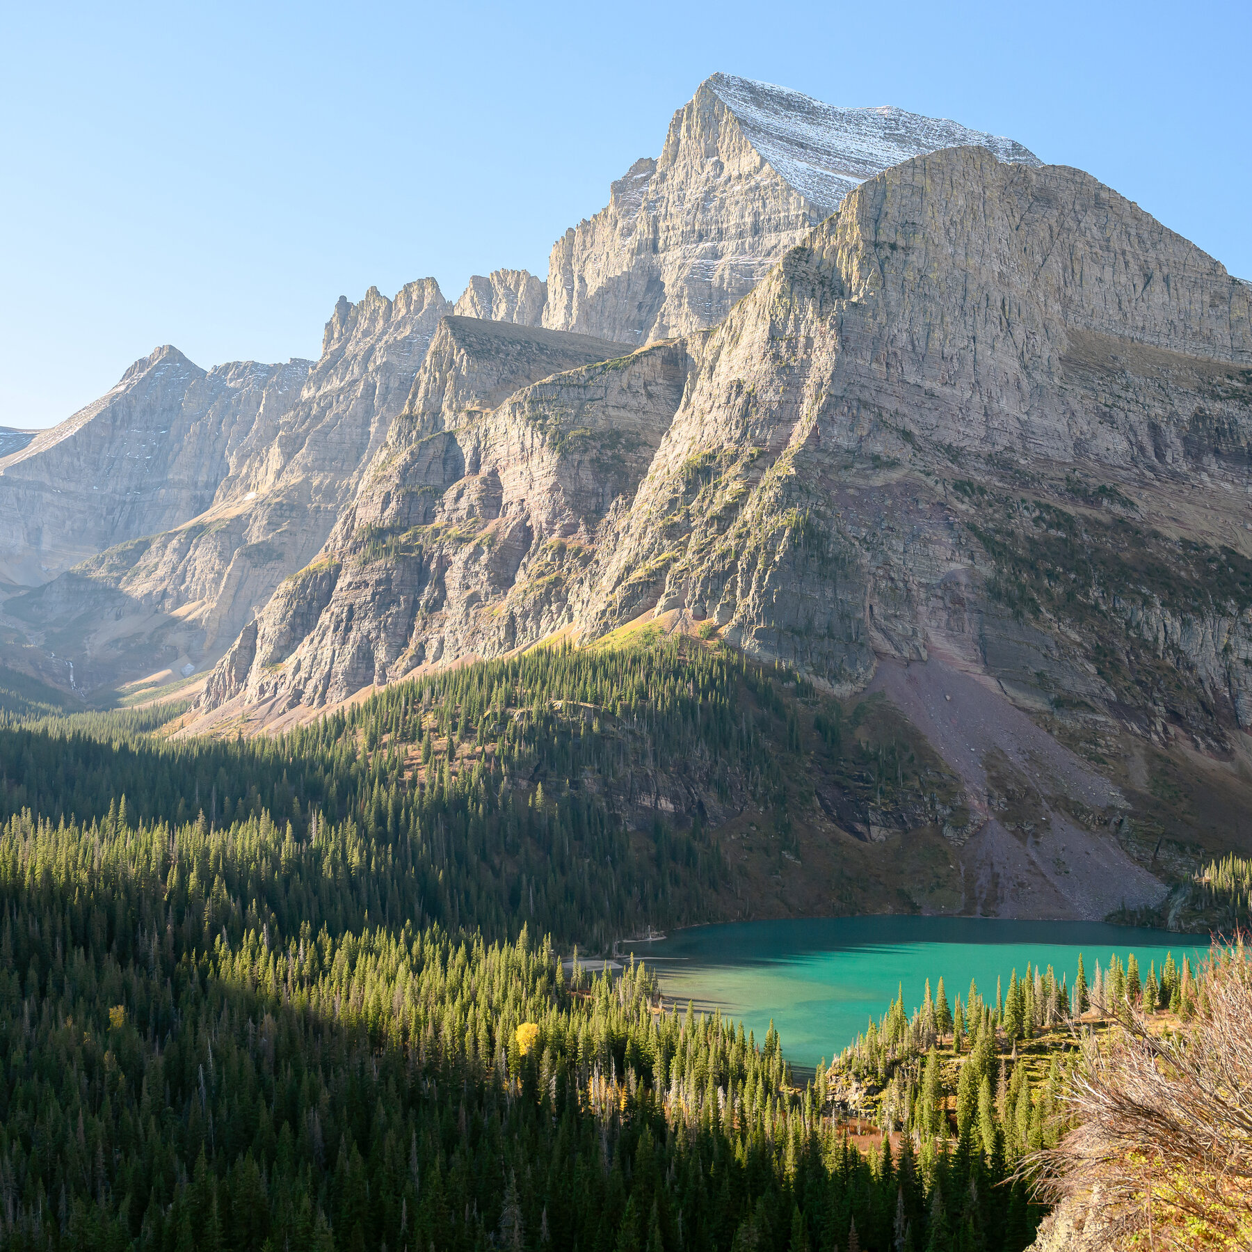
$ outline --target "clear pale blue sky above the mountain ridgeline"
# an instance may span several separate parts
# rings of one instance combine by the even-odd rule
[[[197,11],[199,10],[199,11]],[[1252,5],[13,4],[0,424],[158,343],[317,356],[342,293],[546,277],[714,70],[1079,165],[1252,277]]]

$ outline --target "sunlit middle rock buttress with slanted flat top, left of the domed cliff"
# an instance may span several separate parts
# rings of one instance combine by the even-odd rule
[[[620,351],[446,318],[352,508],[214,673],[207,703],[321,707],[567,622],[686,376],[681,347]]]

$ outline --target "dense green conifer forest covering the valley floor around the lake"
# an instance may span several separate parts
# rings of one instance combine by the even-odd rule
[[[253,738],[3,698],[8,1249],[1019,1252],[1072,1023],[1196,995],[1172,959],[940,980],[809,1078],[585,968],[734,890],[699,816],[623,823],[641,754],[782,830],[801,734],[881,786],[839,702],[729,650],[537,650]]]

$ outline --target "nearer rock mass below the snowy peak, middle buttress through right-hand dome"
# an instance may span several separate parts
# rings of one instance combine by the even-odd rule
[[[958,795],[826,818],[938,825],[962,907],[1154,907],[1252,798],[1248,296],[1080,170],[964,147],[866,179],[712,331],[502,397],[521,332],[446,322],[202,724],[654,622],[889,698]]]

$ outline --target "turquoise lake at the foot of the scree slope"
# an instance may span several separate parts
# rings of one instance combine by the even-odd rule
[[[1108,968],[1111,952],[1124,964],[1134,952],[1147,976],[1172,951],[1194,966],[1208,951],[1201,935],[1109,926],[1103,922],[1000,921],[990,917],[829,917],[804,921],[747,921],[696,926],[655,942],[622,944],[654,968],[667,999],[695,1000],[720,1009],[756,1031],[760,1043],[770,1019],[788,1060],[815,1065],[830,1059],[870,1018],[886,1011],[904,988],[909,1010],[943,975],[948,1003],[964,1000],[969,980],[995,1001],[995,979],[1005,990],[1010,973],[1027,962],[1055,970],[1073,986],[1078,954],[1088,983]]]

